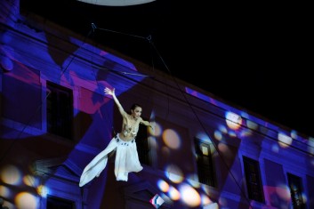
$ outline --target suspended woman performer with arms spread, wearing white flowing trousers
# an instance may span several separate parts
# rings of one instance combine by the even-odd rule
[[[135,137],[139,131],[140,124],[149,126],[153,132],[155,130],[155,122],[149,122],[141,118],[141,105],[134,103],[129,114],[125,112],[125,109],[117,100],[115,88],[109,89],[106,87],[104,92],[111,95],[117,105],[117,109],[123,118],[122,129],[120,133],[117,133],[111,139],[109,145],[85,166],[79,181],[80,187],[83,187],[101,174],[107,165],[109,153],[114,150],[116,151],[115,175],[117,181],[127,181],[128,173],[140,172],[143,167],[137,153]]]

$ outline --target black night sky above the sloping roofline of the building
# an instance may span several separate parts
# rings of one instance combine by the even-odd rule
[[[312,21],[298,4],[149,4],[74,0],[20,6],[152,64],[238,107],[314,136]],[[149,42],[150,40],[150,42]],[[153,47],[152,47],[153,46]]]

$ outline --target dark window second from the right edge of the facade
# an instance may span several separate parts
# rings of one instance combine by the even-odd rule
[[[246,188],[248,197],[255,201],[264,202],[259,162],[249,157],[243,157],[246,173]]]

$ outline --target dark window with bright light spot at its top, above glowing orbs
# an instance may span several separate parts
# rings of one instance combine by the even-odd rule
[[[216,187],[216,173],[213,169],[213,159],[210,143],[195,140],[197,153],[197,175],[198,181],[208,186]]]

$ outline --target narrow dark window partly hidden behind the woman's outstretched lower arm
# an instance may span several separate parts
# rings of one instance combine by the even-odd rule
[[[135,141],[141,164],[151,165],[149,159],[149,141],[146,125],[140,125]]]

